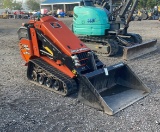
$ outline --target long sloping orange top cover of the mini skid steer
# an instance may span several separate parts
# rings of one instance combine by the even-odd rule
[[[63,22],[52,16],[43,17],[40,21],[30,20],[30,23],[33,22],[36,29],[48,36],[68,56],[90,50]]]

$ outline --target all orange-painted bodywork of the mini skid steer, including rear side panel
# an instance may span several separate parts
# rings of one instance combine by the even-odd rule
[[[40,54],[36,30],[41,31],[49,38],[53,45],[69,57],[81,52],[90,51],[90,49],[81,42],[63,22],[58,21],[52,16],[43,17],[39,21],[30,20],[29,24],[33,24],[34,26],[29,28],[28,33],[26,33],[27,37],[22,37],[19,43],[21,56],[26,63],[31,59],[40,57],[69,77],[75,77],[75,73],[65,64],[61,64],[60,60],[55,61]]]

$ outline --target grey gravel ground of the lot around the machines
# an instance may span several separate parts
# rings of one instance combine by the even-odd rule
[[[62,19],[68,26],[71,18]],[[152,93],[114,116],[90,108],[77,95],[62,97],[27,80],[18,48],[17,29],[27,20],[0,20],[0,131],[131,131],[160,130],[160,22],[135,21],[130,32],[158,39],[157,51],[126,62]],[[106,65],[119,58],[100,58]]]

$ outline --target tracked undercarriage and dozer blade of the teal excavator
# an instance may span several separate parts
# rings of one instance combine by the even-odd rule
[[[137,58],[156,50],[157,40],[142,43],[139,34],[115,35],[111,37],[78,36],[91,50],[102,56],[122,55],[124,60]],[[139,51],[139,52],[138,52]]]

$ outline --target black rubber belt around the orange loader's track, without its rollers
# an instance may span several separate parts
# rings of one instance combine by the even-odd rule
[[[45,85],[40,85],[45,87],[48,90],[54,91],[55,93],[61,94],[63,96],[67,96],[69,94],[75,93],[77,91],[77,84],[74,79],[70,78],[69,76],[65,75],[64,73],[60,72],[58,69],[54,68],[53,66],[49,65],[46,63],[44,60],[38,58],[38,59],[33,59],[31,62],[38,67],[42,68],[45,72],[47,72],[49,75],[51,75],[54,78],[57,78],[59,81],[61,81],[63,84],[66,85],[67,88],[67,94],[56,91],[52,88],[48,88]],[[29,79],[29,78],[28,78]],[[36,84],[39,84],[38,82],[32,81]]]

